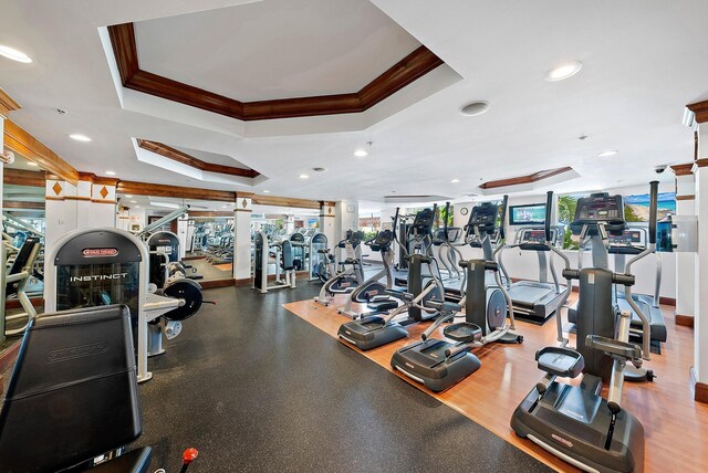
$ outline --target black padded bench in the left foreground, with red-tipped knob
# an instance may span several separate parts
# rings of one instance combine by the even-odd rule
[[[146,473],[149,446],[123,452],[142,431],[135,375],[127,306],[30,320],[0,412],[2,471]]]

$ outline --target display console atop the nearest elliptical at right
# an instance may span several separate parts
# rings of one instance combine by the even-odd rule
[[[573,234],[580,234],[583,227],[587,227],[587,234],[596,234],[598,223],[604,223],[610,234],[622,234],[625,228],[622,196],[600,192],[577,200],[575,219],[570,224]]]

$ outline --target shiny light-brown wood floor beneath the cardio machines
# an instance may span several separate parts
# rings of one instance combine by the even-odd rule
[[[344,301],[340,298],[339,304],[330,307],[312,301],[285,304],[284,307],[336,337],[340,325],[348,320],[334,308],[343,305]],[[668,341],[664,344],[662,355],[652,355],[652,361],[645,362],[657,378],[653,383],[625,383],[623,406],[644,425],[645,471],[708,471],[708,406],[694,402],[689,383],[694,356],[693,329],[674,323],[673,307],[664,306],[662,309],[667,323]],[[408,327],[409,338],[368,351],[345,345],[392,370],[393,353],[419,339],[419,334],[427,326],[412,325]],[[434,393],[398,374],[396,376],[558,471],[576,471],[531,441],[518,438],[509,427],[516,407],[543,376],[534,361],[535,351],[544,346],[558,345],[555,320],[549,320],[542,327],[517,322],[517,332],[524,337],[522,345],[492,344],[475,350],[482,367],[445,392]],[[437,337],[442,337],[441,330]]]

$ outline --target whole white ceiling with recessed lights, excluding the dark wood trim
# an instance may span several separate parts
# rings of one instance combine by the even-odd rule
[[[0,86],[23,107],[12,119],[79,170],[295,198],[383,202],[395,193],[460,201],[479,193],[482,181],[565,166],[580,177],[553,183],[555,190],[616,188],[646,183],[656,178],[654,166],[693,157],[681,116],[686,104],[708,98],[704,0],[292,3],[317,11],[303,17],[284,0],[0,0],[0,44],[34,59],[27,65],[0,57]],[[260,31],[259,15],[275,28],[259,21]],[[159,72],[238,98],[356,88],[363,72],[385,69],[418,42],[447,69],[365,114],[242,123],[116,87],[104,27],[131,21],[146,70],[165,67]],[[309,46],[283,64],[295,40]],[[348,60],[373,50],[382,63],[347,70],[343,50]],[[577,75],[544,81],[548,70],[570,60],[583,63]],[[489,112],[460,115],[475,99],[488,101]],[[93,141],[73,141],[72,133]],[[199,181],[138,161],[133,137],[221,155],[266,178],[253,187]],[[354,157],[357,148],[368,156]],[[597,157],[608,149],[620,153]]]

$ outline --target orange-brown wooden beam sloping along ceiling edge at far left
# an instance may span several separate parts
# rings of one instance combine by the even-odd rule
[[[79,171],[12,120],[4,122],[4,146],[74,186]]]

